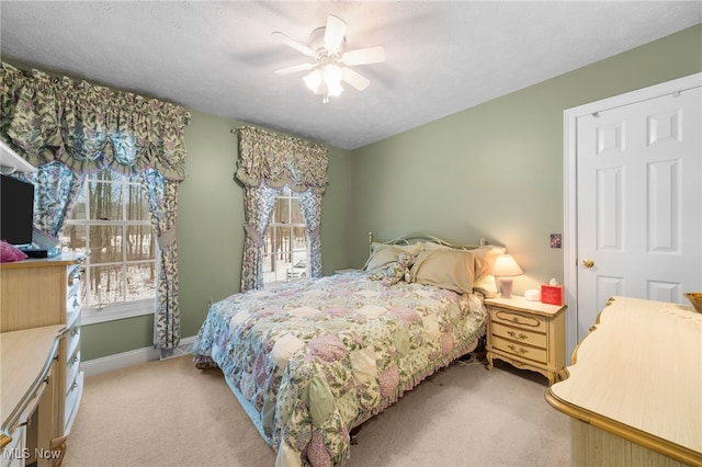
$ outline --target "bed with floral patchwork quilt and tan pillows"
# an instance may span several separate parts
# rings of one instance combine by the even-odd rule
[[[195,366],[222,369],[276,465],[342,464],[354,428],[476,348],[503,252],[417,235],[372,242],[362,271],[213,304]]]

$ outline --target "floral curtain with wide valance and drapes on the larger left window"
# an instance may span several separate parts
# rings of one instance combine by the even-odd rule
[[[0,137],[38,167],[38,225],[57,236],[83,175],[105,168],[141,174],[159,244],[155,346],[180,340],[176,193],[185,178],[181,106],[1,62]]]

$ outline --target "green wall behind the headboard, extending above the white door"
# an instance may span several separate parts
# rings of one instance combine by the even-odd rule
[[[506,246],[525,272],[517,293],[562,282],[564,111],[700,71],[702,25],[355,150],[353,264],[366,231],[422,231]]]

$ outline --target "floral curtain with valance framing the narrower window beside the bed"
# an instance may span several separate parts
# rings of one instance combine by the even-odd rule
[[[236,133],[239,160],[235,176],[245,186],[246,217],[241,291],[263,287],[263,238],[275,194],[285,185],[298,193],[308,230],[310,277],[320,277],[319,218],[327,185],[327,148],[251,126]]]

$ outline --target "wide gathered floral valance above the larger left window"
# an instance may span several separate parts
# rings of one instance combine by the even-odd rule
[[[0,137],[33,166],[59,160],[79,173],[109,167],[185,178],[185,109],[5,62],[0,72]]]

